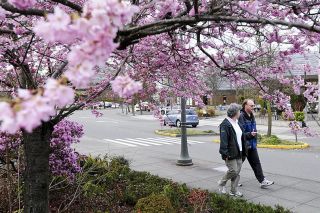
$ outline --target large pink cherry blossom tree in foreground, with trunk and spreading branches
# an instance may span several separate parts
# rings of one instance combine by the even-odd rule
[[[317,0],[1,0],[1,131],[23,133],[25,212],[48,212],[49,142],[54,126],[111,87],[130,99],[143,84],[161,96],[206,93],[201,75],[215,67],[252,84],[291,115],[289,96],[262,82],[278,79],[309,101],[317,86],[285,78],[291,55],[320,42]],[[257,65],[276,49],[269,66]],[[104,74],[92,84],[97,74]],[[138,81],[137,81],[138,80]],[[141,81],[141,82],[139,82]],[[158,86],[158,85],[163,86]],[[75,89],[85,88],[80,100]]]

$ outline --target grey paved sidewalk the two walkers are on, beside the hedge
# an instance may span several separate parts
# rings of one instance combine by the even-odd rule
[[[226,167],[222,163],[193,159],[195,163],[189,167],[175,165],[171,155],[134,157],[132,168],[138,171],[148,171],[173,181],[186,183],[190,187],[207,189],[217,192],[217,181],[223,176]],[[269,206],[281,205],[297,213],[315,213],[320,209],[320,182],[299,179],[278,174],[265,174],[275,181],[268,189],[261,189],[254,178],[252,170],[243,169],[239,190],[244,199],[253,203]],[[228,183],[228,186],[229,183]],[[228,187],[230,189],[230,187]]]

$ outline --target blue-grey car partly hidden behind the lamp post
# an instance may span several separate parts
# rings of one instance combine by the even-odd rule
[[[163,125],[169,126],[181,126],[181,110],[172,110],[169,111],[164,116]],[[187,125],[191,125],[192,127],[197,127],[199,125],[199,118],[197,113],[194,110],[187,109],[186,110],[186,123]]]

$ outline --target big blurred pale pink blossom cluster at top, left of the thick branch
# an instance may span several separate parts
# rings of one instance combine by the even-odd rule
[[[137,12],[126,1],[89,0],[80,15],[71,16],[59,7],[39,21],[34,31],[47,42],[76,44],[68,54],[69,67],[65,75],[76,87],[86,87],[95,74],[95,66],[105,63],[118,47],[117,32]]]

